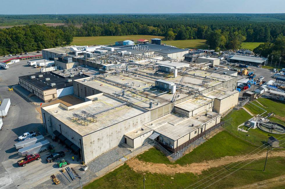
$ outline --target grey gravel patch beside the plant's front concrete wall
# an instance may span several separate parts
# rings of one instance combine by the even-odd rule
[[[117,148],[100,155],[95,160],[88,163],[88,167],[91,171],[98,172],[129,153],[129,149],[118,146]]]

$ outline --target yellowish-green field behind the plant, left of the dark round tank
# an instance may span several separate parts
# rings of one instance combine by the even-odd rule
[[[125,35],[125,36],[92,36],[92,37],[74,37],[71,45],[111,45],[116,41],[147,39],[151,42],[152,38],[163,39],[163,36],[153,35]]]

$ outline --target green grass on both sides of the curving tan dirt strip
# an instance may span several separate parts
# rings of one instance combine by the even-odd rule
[[[190,164],[192,162],[202,162],[204,160],[209,159],[217,159],[218,157],[224,157],[227,155],[241,155],[248,152],[251,152],[255,149],[252,144],[241,140],[238,137],[235,137],[228,133],[227,131],[222,131],[216,134],[214,137],[204,142],[197,148],[195,148],[192,152],[185,155],[181,158],[179,162],[180,165]],[[143,154],[136,157],[141,161],[156,162],[156,163],[166,163],[171,164],[168,160],[165,159],[161,155],[161,153],[155,148],[149,149],[149,151],[144,152]],[[245,184],[251,184],[257,181],[262,181],[265,179],[270,179],[272,177],[277,177],[285,174],[285,158],[284,157],[274,157],[268,159],[268,164],[266,167],[266,171],[263,172],[265,159],[255,160],[253,163],[245,166],[243,169],[236,171],[235,173],[229,175],[227,178],[222,179],[216,184],[210,186],[209,188],[218,189],[218,188],[232,188],[234,186],[243,186]],[[168,162],[166,162],[168,161]],[[178,162],[179,160],[177,160]],[[245,165],[247,162],[241,163],[233,163],[231,167],[233,169],[228,170],[227,174],[232,173],[236,170],[236,168],[240,168]],[[225,165],[226,166],[226,165]],[[172,175],[163,175],[156,173],[137,173],[133,171],[127,164],[120,166],[114,171],[108,173],[107,175],[93,181],[92,183],[84,186],[84,189],[93,189],[93,188],[116,188],[116,189],[124,189],[124,188],[143,188],[143,175],[145,175],[146,182],[145,188],[185,188],[191,184],[194,184],[201,179],[208,177],[211,174],[214,174],[216,171],[224,168],[224,166],[211,168],[209,170],[204,170],[201,175],[195,175],[193,173],[174,173]],[[225,171],[225,170],[223,170]],[[222,173],[222,172],[219,172]],[[214,174],[214,176],[218,175],[218,173]],[[213,179],[213,181],[217,181],[218,179],[225,176],[222,174],[221,176]],[[209,180],[213,176],[205,179]],[[211,184],[213,181],[208,183]],[[199,183],[202,184],[203,182]],[[194,188],[196,185],[193,185]],[[203,185],[202,188],[206,187]],[[279,185],[278,185],[279,186]]]

